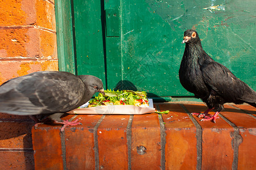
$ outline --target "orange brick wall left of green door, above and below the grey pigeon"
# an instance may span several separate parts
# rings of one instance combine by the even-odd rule
[[[58,70],[54,0],[0,0],[0,84]],[[0,113],[0,169],[34,169],[29,117]]]

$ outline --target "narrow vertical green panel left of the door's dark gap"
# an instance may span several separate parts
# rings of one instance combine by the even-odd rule
[[[101,1],[73,1],[77,74],[105,82],[105,31]],[[105,87],[106,88],[106,87]]]

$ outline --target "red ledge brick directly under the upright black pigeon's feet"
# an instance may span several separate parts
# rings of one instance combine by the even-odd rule
[[[204,112],[204,105],[184,105],[189,112]],[[214,114],[214,112],[209,112]],[[202,169],[232,169],[234,151],[232,148],[232,137],[234,129],[222,118],[201,122],[202,118],[195,117],[202,128]]]

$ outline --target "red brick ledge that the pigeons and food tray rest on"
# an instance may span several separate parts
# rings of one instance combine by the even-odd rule
[[[60,125],[32,128],[35,169],[255,169],[254,107],[225,105],[216,124],[189,114],[205,111],[203,104],[155,108],[171,112],[79,114],[82,125],[63,133]]]

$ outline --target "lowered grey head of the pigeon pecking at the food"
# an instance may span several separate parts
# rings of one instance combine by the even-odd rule
[[[84,82],[94,92],[100,92],[102,95],[105,95],[103,83],[101,79],[93,75],[78,75],[79,78]]]

